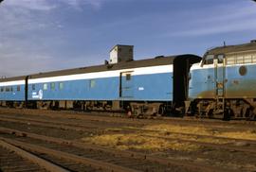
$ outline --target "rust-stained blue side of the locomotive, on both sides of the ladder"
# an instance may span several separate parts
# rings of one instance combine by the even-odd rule
[[[256,65],[244,65],[247,73],[239,73],[242,65],[227,66],[225,69],[225,95],[227,98],[255,98],[256,97]],[[190,81],[190,98],[212,98],[215,93],[214,69],[192,70]]]

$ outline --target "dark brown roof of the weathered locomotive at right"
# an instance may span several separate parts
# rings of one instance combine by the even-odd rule
[[[252,41],[251,43],[237,44],[237,45],[228,45],[228,46],[219,46],[210,49],[208,54],[229,54],[236,52],[244,52],[256,50],[256,43]]]

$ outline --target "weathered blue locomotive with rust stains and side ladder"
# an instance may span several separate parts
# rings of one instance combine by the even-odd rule
[[[256,41],[210,49],[192,65],[191,112],[255,119]]]

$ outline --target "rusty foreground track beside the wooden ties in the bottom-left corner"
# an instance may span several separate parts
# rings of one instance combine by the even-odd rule
[[[93,167],[102,171],[229,171],[200,163],[184,163],[143,153],[106,149],[13,129],[0,129],[0,138],[73,171],[82,171],[84,166],[81,165],[86,165],[85,169]],[[72,168],[74,166],[75,169]]]

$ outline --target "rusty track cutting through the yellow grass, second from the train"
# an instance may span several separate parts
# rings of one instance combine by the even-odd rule
[[[7,118],[1,118],[0,121],[9,121],[9,122],[14,122],[14,123],[21,123],[21,124],[27,124],[29,125],[35,125],[39,127],[48,127],[48,128],[56,128],[56,129],[70,129],[70,130],[76,130],[76,131],[83,131],[83,132],[93,132],[93,130],[97,131],[97,134],[102,134],[105,131],[99,127],[95,129],[95,126],[87,127],[87,126],[79,126],[77,124],[69,124],[69,123],[64,123],[64,122],[49,122],[46,120],[30,120],[27,118],[13,118],[13,117],[7,117]],[[155,132],[155,130],[152,129],[134,129],[134,128],[122,128],[123,130],[132,130],[132,131],[141,131],[143,132]],[[226,150],[233,150],[233,151],[242,151],[242,152],[247,152],[247,153],[256,153],[256,141],[252,140],[247,140],[247,139],[234,139],[234,138],[227,138],[227,137],[219,137],[219,136],[210,136],[210,135],[202,135],[202,134],[192,134],[192,133],[182,133],[182,132],[172,132],[168,131],[169,135],[186,135],[190,136],[192,138],[196,139],[178,139],[178,137],[175,138],[170,138],[168,136],[152,136],[150,134],[141,134],[141,136],[146,136],[146,137],[157,137],[160,139],[166,139],[166,140],[172,140],[172,141],[179,141],[180,143],[190,143],[193,145],[198,145],[198,146],[206,146],[206,147],[213,147],[213,148],[221,148],[221,149],[226,149]],[[221,140],[226,142],[225,145],[223,144],[212,144],[212,143],[205,143],[200,140],[203,139],[211,139],[211,140]],[[197,141],[199,140],[199,141]],[[246,146],[234,146],[234,143],[242,143],[242,145]],[[249,146],[247,146],[249,145]]]

